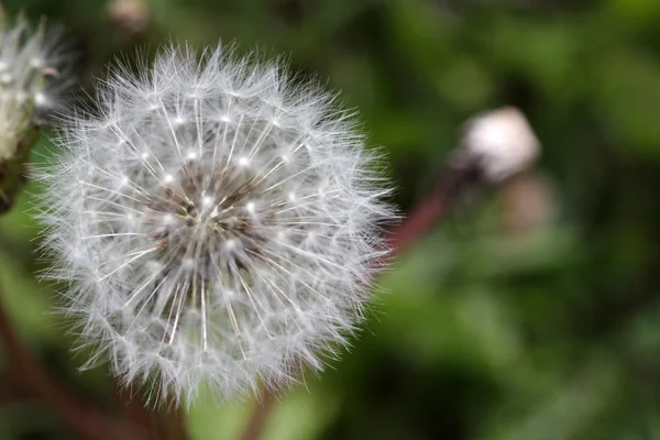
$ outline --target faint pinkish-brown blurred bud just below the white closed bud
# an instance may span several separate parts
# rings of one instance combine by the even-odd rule
[[[502,187],[504,228],[510,233],[534,231],[548,224],[557,212],[557,193],[552,182],[538,173],[510,179]]]

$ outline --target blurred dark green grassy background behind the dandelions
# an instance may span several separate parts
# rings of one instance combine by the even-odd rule
[[[475,112],[515,105],[543,145],[534,173],[470,194],[398,258],[353,348],[283,396],[264,439],[660,439],[658,0],[139,3],[4,1],[63,25],[87,89],[170,36],[286,54],[360,109],[404,211]],[[110,407],[35,280],[35,191],[0,219],[3,300],[62,382]],[[10,385],[0,367],[0,439],[73,438]],[[193,439],[237,438],[251,408],[197,405]]]

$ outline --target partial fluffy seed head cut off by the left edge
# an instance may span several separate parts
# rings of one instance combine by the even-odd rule
[[[70,61],[54,31],[42,21],[31,29],[23,15],[8,24],[0,10],[0,162],[44,112],[58,106],[61,69]]]

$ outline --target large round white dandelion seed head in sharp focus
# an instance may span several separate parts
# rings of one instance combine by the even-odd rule
[[[152,403],[286,384],[362,317],[389,189],[352,114],[298,80],[169,47],[113,70],[43,170],[65,311]]]

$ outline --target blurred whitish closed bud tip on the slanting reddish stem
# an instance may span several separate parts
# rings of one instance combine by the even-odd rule
[[[539,153],[539,141],[522,112],[504,107],[468,122],[455,165],[476,168],[487,183],[499,183],[528,168]]]

